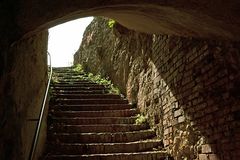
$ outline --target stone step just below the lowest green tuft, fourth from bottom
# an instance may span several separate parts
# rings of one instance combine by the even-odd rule
[[[65,133],[96,133],[96,132],[131,132],[148,129],[146,124],[97,124],[97,125],[64,125],[52,124],[50,126],[51,132],[65,132]]]

